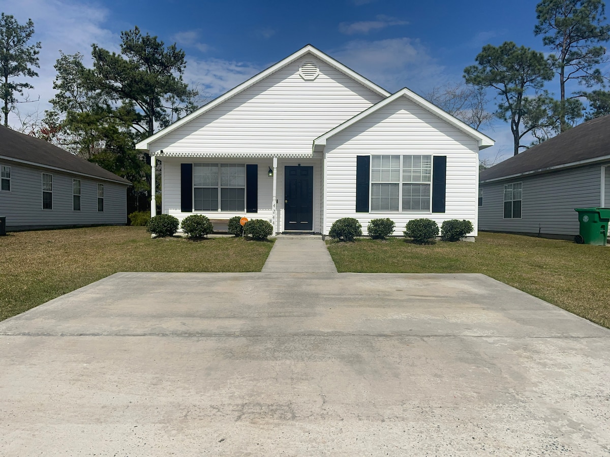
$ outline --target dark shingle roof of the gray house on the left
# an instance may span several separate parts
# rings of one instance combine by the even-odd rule
[[[80,174],[96,179],[131,185],[131,182],[111,173],[95,163],[40,138],[15,132],[0,126],[0,159],[51,168],[57,171]]]

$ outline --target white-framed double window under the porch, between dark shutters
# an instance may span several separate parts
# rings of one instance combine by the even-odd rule
[[[195,211],[244,211],[246,166],[243,163],[195,163]]]

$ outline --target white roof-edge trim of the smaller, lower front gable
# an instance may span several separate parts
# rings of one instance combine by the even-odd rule
[[[363,112],[358,113],[353,118],[343,122],[343,124],[340,124],[334,129],[329,130],[324,135],[318,136],[318,138],[314,140],[314,151],[322,151],[324,149],[324,146],[326,146],[326,140],[328,140],[328,138],[331,138],[331,136],[337,135],[337,133],[348,129],[349,127],[356,124],[356,122],[367,118],[371,114],[381,110],[381,108],[386,107],[387,105],[391,104],[393,101],[396,101],[400,97],[405,97],[407,100],[419,105],[420,107],[424,108],[426,111],[432,113],[440,119],[443,119],[443,121],[447,122],[451,126],[456,127],[456,129],[461,130],[466,135],[471,136],[472,138],[478,141],[479,149],[484,149],[485,147],[493,146],[494,141],[489,138],[489,136],[484,135],[478,130],[473,129],[465,122],[462,122],[458,118],[451,116],[449,113],[443,111],[441,108],[437,107],[436,105],[427,101],[422,96],[419,96],[415,92],[405,87],[397,91],[396,93],[393,93],[391,96],[377,102],[375,105],[367,108]]]

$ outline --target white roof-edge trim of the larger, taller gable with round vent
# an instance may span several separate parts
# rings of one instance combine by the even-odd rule
[[[369,90],[373,91],[374,93],[378,94],[381,97],[385,98],[390,95],[390,93],[387,90],[385,90],[384,88],[379,87],[375,83],[366,79],[364,76],[361,76],[360,74],[358,74],[355,71],[353,71],[352,69],[346,67],[342,63],[337,62],[337,60],[330,57],[329,55],[326,55],[324,52],[320,51],[319,49],[314,48],[314,46],[312,46],[311,44],[307,44],[303,48],[296,51],[294,54],[290,54],[288,57],[280,60],[278,63],[270,66],[269,68],[267,68],[264,71],[261,71],[259,74],[251,77],[250,79],[241,83],[237,87],[232,88],[231,90],[224,93],[220,97],[217,97],[216,99],[213,99],[209,103],[203,105],[203,107],[199,108],[198,110],[190,113],[187,116],[184,116],[184,118],[179,119],[178,121],[174,122],[170,126],[165,127],[165,129],[159,130],[159,132],[155,133],[154,135],[149,136],[148,138],[146,138],[146,140],[140,141],[140,143],[135,145],[136,149],[150,149],[151,143],[154,143],[155,141],[159,140],[159,138],[162,138],[163,136],[167,135],[168,133],[171,133],[174,130],[179,129],[179,127],[184,126],[184,124],[188,124],[188,122],[192,121],[193,119],[198,118],[199,116],[203,115],[204,113],[209,112],[210,110],[217,107],[218,105],[221,105],[224,102],[228,101],[235,95],[242,93],[246,89],[253,87],[254,85],[256,85],[256,83],[264,80],[271,74],[276,73],[276,71],[279,71],[280,69],[284,68],[285,66],[290,65],[290,63],[295,62],[296,60],[300,59],[301,57],[304,57],[307,54],[310,54],[310,55],[314,56],[315,58],[318,58],[322,62],[326,63],[327,65],[331,66],[332,68],[336,69],[337,71],[340,71],[341,73],[345,74],[346,76],[350,77],[351,79],[355,80],[356,82],[359,82],[361,85],[363,85],[364,87],[368,88]]]

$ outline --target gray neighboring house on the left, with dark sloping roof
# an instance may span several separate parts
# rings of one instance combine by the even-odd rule
[[[0,216],[7,230],[124,225],[129,181],[0,126]]]

